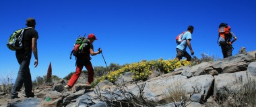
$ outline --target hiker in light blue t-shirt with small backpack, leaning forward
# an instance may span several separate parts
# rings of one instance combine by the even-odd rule
[[[189,25],[189,27],[187,27],[187,31],[181,33],[180,35],[178,35],[178,39],[177,39],[177,47],[176,47],[176,58],[178,60],[181,60],[183,57],[187,58],[187,61],[191,61],[191,56],[187,53],[186,49],[187,46],[189,46],[191,55],[194,55],[194,51],[191,47],[191,39],[192,39],[192,33],[193,33],[194,27],[192,25]],[[180,38],[180,39],[179,39]]]

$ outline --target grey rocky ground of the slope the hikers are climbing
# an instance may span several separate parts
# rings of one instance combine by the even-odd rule
[[[57,82],[53,86],[42,86],[40,88],[35,88],[34,98],[25,98],[24,91],[19,93],[18,99],[11,100],[9,99],[9,94],[0,93],[0,106],[105,106],[106,103],[102,102],[100,97],[110,100],[113,97],[115,102],[120,102],[125,99],[123,95],[133,94],[136,97],[137,95],[143,92],[145,97],[144,100],[150,100],[151,102],[160,103],[164,100],[165,93],[162,89],[172,89],[171,86],[177,84],[177,80],[183,84],[187,94],[195,92],[195,88],[201,88],[193,98],[193,103],[190,106],[205,106],[205,104],[212,106],[218,106],[215,102],[220,95],[218,92],[225,91],[224,89],[228,88],[231,92],[238,92],[239,86],[247,85],[250,80],[256,80],[256,60],[255,60],[256,51],[251,51],[247,53],[240,53],[232,56],[230,58],[225,58],[224,60],[219,60],[217,62],[203,62],[196,66],[184,66],[177,68],[174,72],[169,74],[164,74],[162,76],[156,76],[147,80],[146,82],[139,83],[139,87],[143,87],[143,90],[140,90],[137,84],[129,83],[131,81],[131,75],[125,73],[120,80],[117,80],[115,85],[113,83],[104,80],[97,84],[99,90],[96,88],[88,88],[86,84],[76,84],[74,88],[69,91],[64,88],[63,82]],[[156,71],[159,72],[159,71]],[[237,80],[243,79],[243,82],[237,82]],[[127,90],[115,90],[119,88],[116,86],[118,82],[120,84],[126,84]],[[129,84],[129,85],[128,85]],[[114,90],[114,92],[108,92],[108,90]],[[126,88],[125,88],[126,89]],[[172,90],[174,90],[173,87]],[[24,90],[24,89],[22,89]],[[128,92],[128,93],[122,93]],[[110,95],[111,96],[108,96]],[[212,97],[214,96],[214,97]],[[201,102],[201,101],[204,102]],[[125,103],[124,103],[125,104]],[[173,102],[163,106],[173,106]]]

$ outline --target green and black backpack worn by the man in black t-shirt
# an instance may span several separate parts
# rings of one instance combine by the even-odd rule
[[[32,27],[22,28],[14,31],[7,41],[7,47],[12,51],[15,51],[16,49],[22,49],[22,38],[24,31],[30,28]]]

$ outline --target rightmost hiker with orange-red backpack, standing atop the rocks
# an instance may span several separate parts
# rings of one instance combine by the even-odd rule
[[[232,56],[232,49],[233,49],[232,43],[234,43],[236,39],[237,39],[236,35],[234,35],[234,33],[231,32],[231,27],[227,23],[220,23],[219,38],[217,43],[222,48],[223,58],[228,58]]]

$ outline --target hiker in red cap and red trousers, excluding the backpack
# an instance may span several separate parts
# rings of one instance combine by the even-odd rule
[[[98,51],[94,52],[93,43],[95,40],[97,40],[97,39],[93,33],[90,33],[88,35],[88,38],[86,38],[86,41],[88,41],[87,42],[88,47],[84,48],[82,53],[80,53],[77,56],[77,58],[76,58],[77,60],[75,62],[75,65],[76,65],[75,74],[73,74],[73,76],[71,76],[71,78],[70,78],[69,82],[67,83],[67,85],[65,86],[65,88],[71,89],[75,85],[75,82],[79,78],[84,66],[86,67],[86,70],[88,71],[88,86],[90,86],[90,84],[93,82],[94,69],[92,68],[92,63],[90,62],[90,60],[92,59],[90,57],[90,55],[95,56],[102,52],[102,49],[98,49]]]

